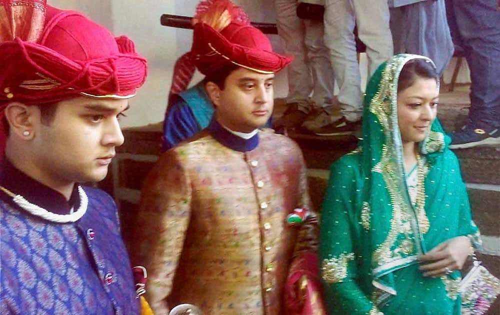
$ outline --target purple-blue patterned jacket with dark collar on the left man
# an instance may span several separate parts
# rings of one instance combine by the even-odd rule
[[[68,202],[8,161],[2,166],[1,186],[32,203],[64,214],[79,204],[77,189]],[[116,206],[105,192],[83,188],[87,211],[74,223],[31,215],[0,193],[1,314],[139,313]]]

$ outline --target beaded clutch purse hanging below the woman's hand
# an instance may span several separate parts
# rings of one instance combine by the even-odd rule
[[[485,313],[500,294],[500,280],[472,255],[473,265],[458,286],[462,298],[462,315]]]

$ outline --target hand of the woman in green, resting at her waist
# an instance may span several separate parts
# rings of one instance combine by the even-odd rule
[[[467,236],[450,238],[435,246],[425,255],[417,259],[422,261],[418,269],[423,276],[438,277],[463,267],[468,254],[471,252],[470,240]]]

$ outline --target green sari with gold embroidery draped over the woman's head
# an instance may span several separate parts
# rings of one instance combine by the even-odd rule
[[[380,65],[366,88],[363,139],[331,166],[321,212],[321,279],[330,314],[459,314],[459,272],[423,277],[416,257],[479,233],[449,137],[435,119],[419,143],[417,194],[406,187],[397,125],[397,80],[414,58]],[[432,63],[433,64],[433,63]]]

